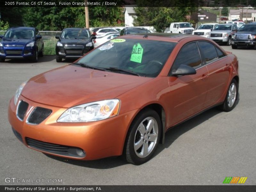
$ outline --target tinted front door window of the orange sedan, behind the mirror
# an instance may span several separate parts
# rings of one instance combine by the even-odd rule
[[[172,69],[177,69],[181,64],[188,65],[194,69],[202,66],[201,57],[195,42],[186,44],[181,48]]]

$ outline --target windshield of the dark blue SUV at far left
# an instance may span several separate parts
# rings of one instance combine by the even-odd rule
[[[33,39],[35,33],[31,29],[9,29],[4,38],[6,39]]]

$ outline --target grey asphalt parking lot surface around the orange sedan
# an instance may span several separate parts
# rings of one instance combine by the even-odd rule
[[[56,63],[54,56],[37,63],[0,63],[1,185],[221,185],[225,177],[248,177],[256,185],[256,50],[222,46],[239,59],[239,102],[231,112],[210,109],[166,133],[165,143],[147,163],[127,164],[121,157],[95,161],[44,155],[22,145],[7,118],[8,104],[18,86]],[[62,179],[62,183],[6,183],[5,178]]]

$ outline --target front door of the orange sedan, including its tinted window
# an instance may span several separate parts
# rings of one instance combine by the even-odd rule
[[[181,64],[196,69],[196,74],[185,76],[168,77],[170,98],[168,106],[168,126],[193,116],[204,108],[204,101],[207,92],[208,71],[202,65],[202,60],[196,42],[185,44],[176,57],[171,70],[177,69]]]

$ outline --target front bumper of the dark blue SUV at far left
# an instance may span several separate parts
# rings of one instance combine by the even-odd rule
[[[0,47],[1,59],[30,59],[35,57],[35,54],[34,47]]]

